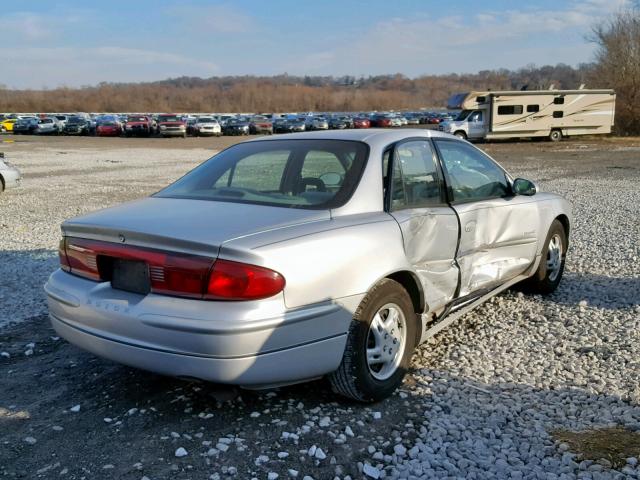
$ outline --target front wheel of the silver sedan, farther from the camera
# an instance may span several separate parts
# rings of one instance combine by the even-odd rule
[[[559,220],[554,220],[545,239],[538,269],[522,282],[522,290],[542,295],[553,293],[562,280],[568,244],[564,226]]]

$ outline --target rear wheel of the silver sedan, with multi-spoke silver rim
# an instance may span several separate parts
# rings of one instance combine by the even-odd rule
[[[333,391],[360,402],[375,402],[391,395],[409,368],[418,323],[402,285],[384,279],[374,286],[355,312],[340,366],[329,375]],[[387,328],[381,328],[385,324]],[[396,349],[397,345],[393,357],[386,362],[379,362],[379,358],[374,359],[378,363],[369,361],[368,350],[380,351],[381,345],[383,351]]]

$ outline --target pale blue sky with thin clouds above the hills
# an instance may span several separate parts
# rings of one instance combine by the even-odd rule
[[[591,26],[629,1],[7,1],[0,84],[575,66],[593,59]]]

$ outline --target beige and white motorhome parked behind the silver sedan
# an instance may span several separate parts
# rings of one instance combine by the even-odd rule
[[[574,135],[611,133],[613,90],[522,90],[453,95],[450,110],[458,117],[439,129],[469,140],[546,137],[560,141]]]

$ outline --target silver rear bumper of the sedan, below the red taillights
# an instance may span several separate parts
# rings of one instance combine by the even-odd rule
[[[113,290],[60,270],[45,285],[58,334],[98,356],[164,375],[251,388],[338,368],[352,314],[337,303],[286,310]]]

